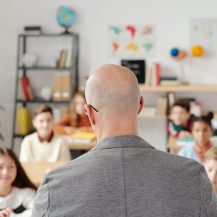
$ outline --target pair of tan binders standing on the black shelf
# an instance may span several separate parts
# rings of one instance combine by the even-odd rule
[[[71,97],[70,73],[55,73],[53,76],[53,100],[67,101]]]

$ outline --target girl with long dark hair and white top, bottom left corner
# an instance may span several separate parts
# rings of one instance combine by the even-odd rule
[[[17,156],[0,147],[0,217],[30,217],[35,195]]]

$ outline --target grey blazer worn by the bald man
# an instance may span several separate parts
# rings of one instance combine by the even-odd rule
[[[204,167],[137,136],[106,138],[49,173],[32,217],[217,217]]]

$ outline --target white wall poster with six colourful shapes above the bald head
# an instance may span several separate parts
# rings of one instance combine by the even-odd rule
[[[109,50],[116,57],[153,57],[155,29],[151,25],[109,27]]]

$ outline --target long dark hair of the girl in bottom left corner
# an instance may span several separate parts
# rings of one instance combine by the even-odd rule
[[[16,165],[17,176],[12,183],[12,186],[18,188],[32,188],[37,190],[36,186],[30,181],[29,177],[26,175],[22,165],[20,164],[16,154],[9,148],[0,147],[0,155],[8,155]]]

